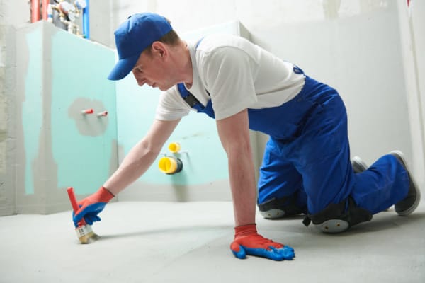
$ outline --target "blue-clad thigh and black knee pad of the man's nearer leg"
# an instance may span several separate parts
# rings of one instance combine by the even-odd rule
[[[351,195],[355,176],[363,173],[355,174],[351,165],[346,110],[341,98],[329,97],[310,114],[292,153],[307,194],[304,223],[312,221],[324,232],[339,233],[372,219],[370,211]]]

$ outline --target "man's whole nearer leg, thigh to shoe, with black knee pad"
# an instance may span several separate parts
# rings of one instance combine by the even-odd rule
[[[295,166],[302,175],[309,211],[305,224],[312,221],[324,232],[339,233],[392,204],[400,215],[412,213],[420,192],[402,156],[382,156],[367,170],[354,173],[344,105],[334,98],[322,106],[312,113],[297,141]]]

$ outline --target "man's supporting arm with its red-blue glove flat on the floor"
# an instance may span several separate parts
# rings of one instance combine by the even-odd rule
[[[217,129],[229,161],[236,224],[230,250],[237,258],[257,255],[271,260],[292,260],[295,256],[293,248],[264,238],[256,231],[256,185],[249,141],[248,110],[217,120]]]

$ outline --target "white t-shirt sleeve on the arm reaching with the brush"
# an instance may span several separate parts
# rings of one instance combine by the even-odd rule
[[[173,86],[159,96],[157,120],[172,121],[188,115],[190,106],[181,98],[177,86]]]

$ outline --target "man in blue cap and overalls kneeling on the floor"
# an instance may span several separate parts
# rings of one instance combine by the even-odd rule
[[[366,170],[350,162],[346,108],[331,87],[293,64],[240,37],[209,35],[193,45],[181,40],[166,18],[140,13],[115,31],[119,61],[108,79],[130,72],[140,86],[162,94],[156,119],[118,170],[74,215],[89,224],[121,190],[154,162],[181,117],[190,110],[215,118],[227,153],[234,205],[237,258],[259,255],[291,260],[293,248],[256,231],[256,202],[266,218],[306,214],[324,232],[339,233],[395,204],[408,215],[420,200],[399,151]],[[270,136],[260,169],[258,199],[249,129]],[[360,169],[358,169],[360,168]]]

